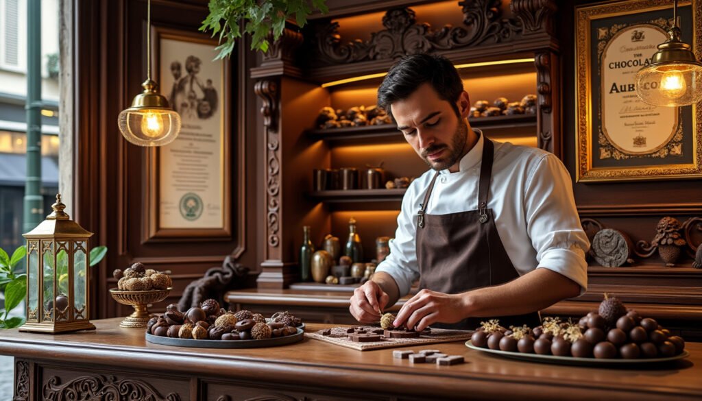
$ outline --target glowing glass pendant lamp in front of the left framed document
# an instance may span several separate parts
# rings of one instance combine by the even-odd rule
[[[163,146],[173,142],[180,132],[180,115],[157,91],[151,79],[151,0],[147,1],[147,78],[144,92],[135,96],[131,107],[119,113],[117,122],[122,136],[138,146]]]

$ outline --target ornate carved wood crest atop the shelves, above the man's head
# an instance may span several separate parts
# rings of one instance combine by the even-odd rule
[[[312,27],[312,42],[318,53],[315,62],[322,65],[388,60],[402,55],[501,43],[522,34],[522,22],[501,18],[500,0],[471,0],[458,3],[463,9],[465,27],[445,25],[432,29],[416,22],[408,7],[390,8],[383,16],[385,29],[373,32],[369,41],[355,40],[341,44],[338,22],[319,20]]]

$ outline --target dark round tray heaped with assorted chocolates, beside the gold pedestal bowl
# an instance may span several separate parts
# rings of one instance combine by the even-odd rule
[[[149,320],[146,341],[164,346],[194,348],[259,348],[282,346],[303,339],[302,322],[288,312],[264,317],[250,310],[236,313],[220,308],[214,299],[185,312],[173,303],[164,315]]]

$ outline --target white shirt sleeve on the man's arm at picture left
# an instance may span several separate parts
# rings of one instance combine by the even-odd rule
[[[395,280],[401,297],[409,294],[412,283],[419,278],[415,241],[417,216],[414,212],[418,207],[414,204],[417,181],[413,181],[402,198],[395,238],[390,239],[390,255],[376,268],[376,272],[386,272]]]

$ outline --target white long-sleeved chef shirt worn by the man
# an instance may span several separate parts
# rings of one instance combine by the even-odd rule
[[[478,208],[478,182],[483,151],[483,135],[459,162],[459,171],[439,171],[428,214],[448,214]],[[571,178],[562,162],[552,153],[535,147],[493,141],[495,157],[487,207],[507,255],[519,275],[536,268],[558,272],[588,287],[585,251],[590,242],[578,218]],[[400,296],[409,293],[419,278],[416,253],[417,212],[435,170],[413,180],[402,199],[397,232],[390,240],[390,255],[376,271],[395,279]],[[451,280],[446,277],[446,280]]]

